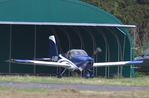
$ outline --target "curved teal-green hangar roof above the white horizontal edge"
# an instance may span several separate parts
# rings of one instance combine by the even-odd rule
[[[121,23],[80,0],[0,0],[0,21]]]

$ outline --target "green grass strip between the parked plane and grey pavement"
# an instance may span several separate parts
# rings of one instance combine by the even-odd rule
[[[0,82],[23,82],[23,83],[69,83],[90,85],[121,85],[121,86],[149,86],[149,76],[136,78],[77,78],[63,77],[41,77],[41,76],[0,76]]]

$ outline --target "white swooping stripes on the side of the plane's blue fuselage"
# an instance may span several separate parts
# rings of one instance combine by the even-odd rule
[[[76,64],[74,64],[73,62],[71,62],[70,60],[68,60],[67,58],[65,58],[64,56],[62,56],[61,54],[59,55],[59,57],[61,59],[58,60],[58,62],[59,63],[70,65],[71,66],[71,67],[69,67],[70,70],[80,70],[80,71],[82,71],[82,69],[78,68]]]

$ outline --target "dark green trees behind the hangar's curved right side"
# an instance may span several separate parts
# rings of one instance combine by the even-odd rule
[[[135,24],[136,54],[141,55],[149,44],[149,0],[82,0],[104,9],[124,24]],[[130,30],[132,31],[132,30]]]

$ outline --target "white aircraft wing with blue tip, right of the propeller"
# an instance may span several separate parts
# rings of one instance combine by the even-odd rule
[[[94,63],[93,67],[104,67],[104,66],[123,66],[123,65],[137,65],[143,63],[143,61],[119,61],[119,62],[100,62]]]

